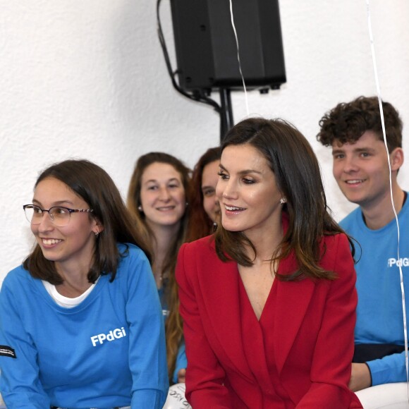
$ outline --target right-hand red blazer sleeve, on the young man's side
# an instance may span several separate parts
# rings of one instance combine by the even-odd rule
[[[310,390],[297,408],[345,409],[362,408],[358,398],[348,389],[353,357],[356,274],[348,239],[344,234],[326,240],[322,267],[334,271],[338,278],[329,283],[322,326],[312,359]],[[351,402],[352,399],[352,402]]]

